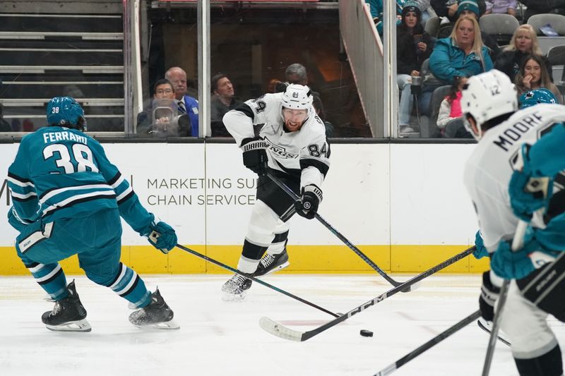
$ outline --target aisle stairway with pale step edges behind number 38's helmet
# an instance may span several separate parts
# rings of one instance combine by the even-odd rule
[[[12,131],[44,126],[45,104],[70,95],[89,131],[124,131],[120,14],[0,13],[0,103]]]

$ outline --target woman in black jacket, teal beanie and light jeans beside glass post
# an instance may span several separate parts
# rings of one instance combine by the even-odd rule
[[[414,131],[409,126],[412,112],[412,76],[420,76],[420,68],[432,54],[432,40],[424,31],[420,18],[422,11],[417,1],[406,1],[402,22],[396,27],[396,73],[400,87],[398,124],[401,132]]]

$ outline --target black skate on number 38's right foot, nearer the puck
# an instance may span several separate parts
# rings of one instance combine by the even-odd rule
[[[174,313],[162,298],[159,289],[151,294],[151,303],[129,315],[129,322],[139,328],[148,329],[179,329],[177,322],[172,320]]]

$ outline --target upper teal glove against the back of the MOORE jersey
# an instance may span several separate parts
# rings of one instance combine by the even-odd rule
[[[530,222],[536,210],[549,205],[553,179],[532,171],[528,157],[530,145],[524,144],[513,162],[515,171],[509,183],[510,205],[516,217]]]

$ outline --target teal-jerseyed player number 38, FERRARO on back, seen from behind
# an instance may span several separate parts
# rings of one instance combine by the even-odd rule
[[[90,332],[74,281],[66,284],[59,260],[78,255],[88,279],[107,286],[138,310],[138,327],[177,329],[159,290],[151,293],[133,269],[122,264],[120,217],[163,253],[177,244],[171,226],[145,210],[104,149],[83,133],[81,105],[71,97],[47,104],[47,127],[25,135],[8,169],[13,207],[8,222],[20,235],[16,251],[56,302],[42,315],[48,329]]]

